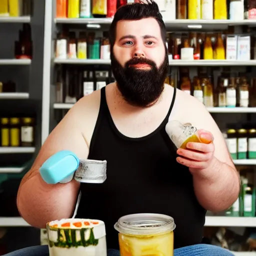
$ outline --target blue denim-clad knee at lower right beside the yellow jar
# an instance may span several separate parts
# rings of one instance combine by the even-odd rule
[[[174,256],[234,256],[227,249],[210,244],[195,244],[174,250]]]

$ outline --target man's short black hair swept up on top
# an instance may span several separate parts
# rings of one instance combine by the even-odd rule
[[[166,27],[157,3],[153,0],[136,0],[134,3],[122,5],[116,10],[109,28],[110,51],[112,51],[115,42],[116,23],[119,20],[139,20],[148,17],[153,17],[158,22],[162,41],[165,45]]]

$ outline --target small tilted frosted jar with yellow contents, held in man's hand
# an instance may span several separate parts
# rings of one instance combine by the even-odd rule
[[[197,129],[191,123],[182,124],[177,120],[169,120],[165,130],[177,148],[186,148],[187,142],[203,142],[198,138]]]

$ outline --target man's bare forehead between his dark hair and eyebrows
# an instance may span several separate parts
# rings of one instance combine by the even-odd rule
[[[154,18],[119,20],[116,24],[116,35],[123,36],[126,34],[132,34],[134,36],[151,34],[158,37],[160,36],[160,27]]]

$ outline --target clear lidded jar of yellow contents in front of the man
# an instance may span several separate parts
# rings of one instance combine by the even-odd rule
[[[120,256],[173,256],[172,217],[156,213],[122,216],[114,224],[119,232]]]

